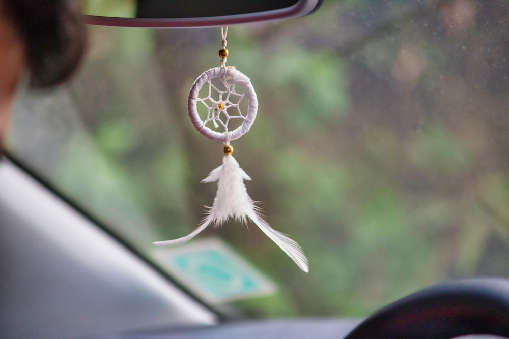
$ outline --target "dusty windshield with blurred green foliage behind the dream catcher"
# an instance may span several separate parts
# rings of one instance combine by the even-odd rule
[[[235,157],[309,273],[231,221],[189,244],[219,237],[273,288],[210,302],[253,317],[364,316],[448,279],[509,275],[508,9],[327,1],[302,19],[231,26],[228,65],[259,101]],[[88,29],[70,85],[20,95],[8,151],[164,267],[152,242],[191,232],[217,189],[200,181],[222,144],[196,132],[187,97],[219,66],[219,28]]]

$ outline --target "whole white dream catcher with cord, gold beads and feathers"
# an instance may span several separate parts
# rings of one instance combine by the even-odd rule
[[[251,128],[258,111],[258,99],[251,81],[234,67],[226,66],[228,50],[226,35],[228,27],[221,27],[222,46],[219,50],[221,67],[211,68],[200,75],[191,86],[187,108],[192,124],[207,138],[224,144],[222,165],[214,169],[202,182],[217,181],[217,193],[212,207],[207,207],[207,215],[202,223],[190,234],[167,241],[154,242],[158,246],[179,245],[189,241],[208,226],[219,226],[229,218],[246,223],[247,219],[256,224],[262,232],[272,239],[303,271],[309,270],[307,258],[300,245],[286,234],[272,229],[261,217],[260,208],[247,194],[244,180],[251,180],[232,156],[230,141],[236,140]],[[213,80],[216,79],[217,83]],[[218,80],[218,81],[217,81]],[[207,95],[200,98],[200,91],[206,89]],[[208,89],[208,90],[207,90]],[[203,92],[203,91],[202,91]],[[241,105],[247,99],[247,113],[243,114]],[[205,119],[199,115],[198,106],[207,110]],[[205,107],[205,108],[204,108]],[[233,131],[229,125],[240,124]],[[217,132],[207,125],[212,124]]]

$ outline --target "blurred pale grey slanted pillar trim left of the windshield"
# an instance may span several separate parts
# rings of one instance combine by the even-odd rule
[[[7,159],[0,160],[0,337],[208,326],[216,314]]]

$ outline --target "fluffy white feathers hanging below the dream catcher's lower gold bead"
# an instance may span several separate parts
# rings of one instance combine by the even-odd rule
[[[246,222],[249,218],[274,241],[304,272],[309,271],[307,258],[299,244],[284,233],[272,229],[259,214],[259,208],[247,194],[244,180],[251,180],[231,155],[223,157],[223,164],[214,169],[202,182],[217,181],[217,194],[202,223],[185,237],[154,242],[158,246],[178,245],[189,241],[208,226],[218,226],[230,217]]]

